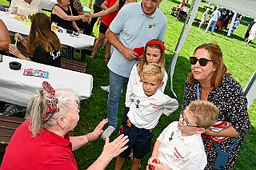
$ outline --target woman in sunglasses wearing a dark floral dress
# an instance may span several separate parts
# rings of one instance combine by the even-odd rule
[[[232,169],[242,147],[243,136],[250,131],[245,94],[238,82],[227,72],[222,50],[218,45],[199,45],[194,50],[194,56],[190,57],[190,63],[191,72],[184,87],[182,110],[191,101],[198,99],[210,101],[218,107],[218,125],[225,128],[218,128],[215,132],[208,128],[202,134],[207,156],[206,169],[214,169],[218,155],[218,149],[214,147],[215,141],[222,152],[228,152],[234,144],[226,164],[223,165],[225,169]]]

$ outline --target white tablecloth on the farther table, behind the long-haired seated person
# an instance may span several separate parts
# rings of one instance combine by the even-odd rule
[[[5,12],[0,11],[0,18],[3,22],[5,22],[11,35],[19,32],[26,37],[30,33],[30,26],[26,25],[22,21],[15,19],[13,14],[6,15]],[[79,34],[78,37],[70,37],[70,34],[58,32],[56,34],[58,35],[58,39],[62,45],[69,45],[74,47],[74,49],[90,48],[94,45],[94,37],[92,36]]]

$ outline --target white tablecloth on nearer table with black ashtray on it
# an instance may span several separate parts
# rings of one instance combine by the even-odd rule
[[[22,64],[22,69],[10,69],[10,61],[18,61]],[[48,71],[49,79],[23,76],[24,69],[41,69]],[[36,89],[42,88],[42,81],[48,81],[54,89],[74,89],[78,93],[79,100],[90,97],[93,89],[93,77],[90,74],[61,69],[50,65],[42,65],[15,57],[2,56],[0,73],[0,101],[6,101],[14,105],[27,106],[30,97],[33,96]]]

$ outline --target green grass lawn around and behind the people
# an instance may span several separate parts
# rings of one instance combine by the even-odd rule
[[[165,14],[168,18],[168,26],[166,30],[166,69],[169,67],[169,63],[174,53],[175,46],[178,42],[179,35],[182,30],[184,19],[176,20],[173,16],[170,15],[172,5],[178,5],[182,0],[179,1],[166,1],[166,10]],[[82,2],[88,5],[89,0],[82,0]],[[191,0],[189,1],[191,2]],[[1,4],[7,4],[6,0],[0,0]],[[170,4],[170,8],[168,6]],[[202,3],[200,6],[205,6],[206,4]],[[162,4],[160,6],[162,9]],[[202,9],[198,10],[198,18],[202,18]],[[136,19],[136,18],[134,18]],[[252,42],[250,45],[245,45],[244,34],[246,33],[247,26],[240,25],[238,29],[234,31],[230,37],[227,37],[226,34],[214,33],[213,35],[208,32],[204,32],[206,29],[205,26],[202,26],[202,30],[198,30],[198,25],[193,24],[190,29],[190,33],[186,38],[182,50],[178,54],[178,61],[174,72],[174,92],[177,94],[177,100],[179,102],[179,109],[172,113],[170,117],[162,117],[158,123],[158,126],[154,128],[154,138],[152,140],[152,148],[156,137],[162,132],[163,128],[170,124],[172,121],[178,120],[178,115],[182,105],[182,95],[183,95],[183,85],[186,81],[186,76],[190,72],[190,61],[189,57],[193,55],[194,49],[203,43],[208,42],[217,42],[220,45],[224,62],[232,76],[242,85],[242,88],[245,88],[247,81],[249,81],[251,75],[256,69],[256,42]],[[94,35],[98,36],[98,26],[94,26]],[[103,118],[106,118],[106,101],[108,93],[103,91],[100,86],[109,84],[109,70],[106,67],[106,61],[103,60],[105,50],[99,49],[96,53],[95,59],[91,59],[89,56],[86,56],[86,73],[93,75],[94,77],[94,89],[92,95],[89,99],[82,101],[81,112],[80,112],[80,121],[78,126],[74,130],[75,135],[83,135],[87,132],[93,131],[94,127],[98,125],[98,122],[102,121]],[[79,55],[77,54],[78,59]],[[77,82],[78,83],[78,82]],[[126,89],[123,89],[123,92],[126,92]],[[170,81],[166,85],[166,94],[170,97],[174,97],[170,91]],[[121,125],[122,114],[125,108],[125,93],[122,93],[121,100],[119,102],[118,109],[118,127]],[[1,106],[4,104],[1,103]],[[2,107],[1,107],[2,108]],[[2,112],[2,109],[0,109]],[[255,160],[256,148],[254,146],[256,138],[256,101],[254,100],[253,104],[248,109],[250,114],[251,121],[251,131],[246,135],[242,150],[238,156],[238,160],[235,164],[234,169],[255,169]],[[118,130],[110,137],[110,140],[114,140],[115,135]],[[97,157],[102,152],[102,147],[104,145],[104,140],[99,138],[86,144],[86,146],[79,148],[74,152],[74,156],[78,162],[79,169],[86,169],[97,159]],[[3,154],[0,155],[2,160]],[[147,160],[150,157],[150,153],[145,156],[142,160],[142,168],[146,169]],[[115,159],[110,162],[106,169],[114,169]],[[126,160],[122,169],[130,169],[131,161]]]

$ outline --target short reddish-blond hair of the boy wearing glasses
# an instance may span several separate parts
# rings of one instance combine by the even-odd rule
[[[188,113],[196,118],[196,125],[202,128],[210,128],[218,121],[218,108],[209,101],[192,101]]]

